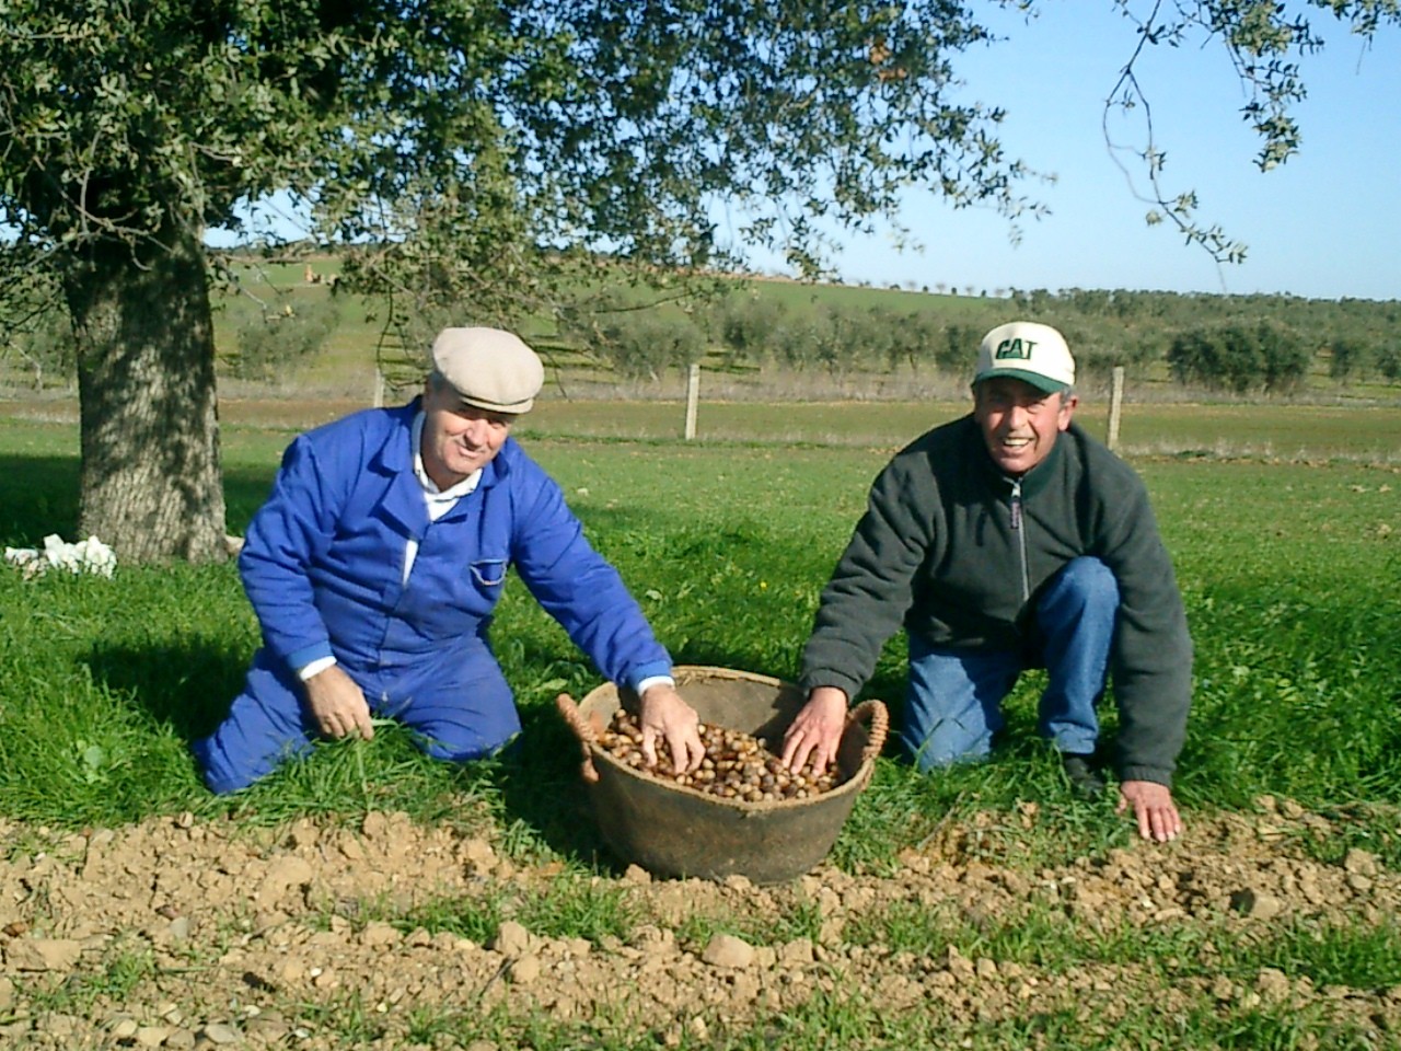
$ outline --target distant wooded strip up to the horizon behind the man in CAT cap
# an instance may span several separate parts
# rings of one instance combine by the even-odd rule
[[[1344,385],[1401,383],[1397,301],[1083,289],[899,298],[918,303],[846,304],[814,291],[794,307],[761,283],[688,311],[602,307],[574,318],[565,338],[628,378],[700,360],[838,378],[897,370],[961,376],[988,328],[1026,318],[1066,335],[1086,380],[1122,366],[1129,376],[1166,370],[1182,385],[1240,395],[1297,394],[1314,371]]]

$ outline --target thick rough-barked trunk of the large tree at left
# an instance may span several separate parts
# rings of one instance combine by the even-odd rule
[[[123,562],[216,562],[224,547],[205,254],[178,228],[146,251],[90,247],[64,269],[78,350],[78,527]]]

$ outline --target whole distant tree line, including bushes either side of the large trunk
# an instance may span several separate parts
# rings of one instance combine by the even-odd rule
[[[1117,366],[1133,378],[1153,374],[1236,395],[1297,394],[1311,374],[1341,385],[1401,383],[1401,303],[1394,300],[1086,289],[958,297],[754,282],[684,305],[609,293],[587,303],[559,317],[559,345],[626,380],[696,363],[838,380],[901,371],[962,377],[988,328],[1026,318],[1065,334],[1084,383],[1105,380]],[[340,304],[336,297],[244,298],[228,321],[221,370],[286,381],[331,339]],[[73,335],[57,311],[32,312],[22,331],[11,327],[8,350],[36,385],[76,376]]]

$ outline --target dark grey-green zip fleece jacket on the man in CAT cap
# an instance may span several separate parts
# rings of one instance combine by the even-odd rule
[[[822,591],[801,684],[855,696],[902,624],[936,646],[1023,652],[1038,589],[1080,555],[1119,586],[1119,776],[1171,785],[1192,692],[1182,598],[1143,482],[1075,423],[1020,481],[971,415],[901,450]]]

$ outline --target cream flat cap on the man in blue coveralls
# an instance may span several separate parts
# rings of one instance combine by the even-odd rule
[[[464,402],[490,412],[530,412],[545,383],[537,353],[499,328],[444,328],[433,341],[433,367]]]

